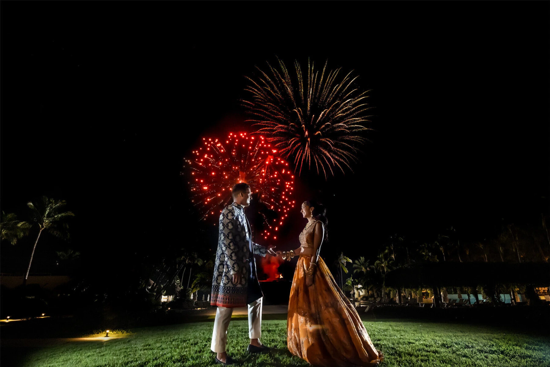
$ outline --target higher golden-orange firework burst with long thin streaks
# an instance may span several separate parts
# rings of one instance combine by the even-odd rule
[[[308,168],[315,163],[317,174],[321,168],[325,179],[327,169],[333,175],[336,167],[353,171],[357,145],[367,141],[361,133],[370,130],[362,125],[370,122],[366,111],[371,107],[365,103],[369,91],[360,93],[351,87],[358,78],[351,76],[353,71],[338,79],[342,68],[327,72],[327,62],[319,76],[309,61],[305,80],[300,64],[294,62],[295,88],[287,67],[278,62],[281,72],[267,63],[269,75],[256,67],[261,75],[246,77],[251,84],[245,90],[252,98],[241,102],[252,115],[248,121],[260,126],[257,133],[266,136],[284,158],[294,158],[299,174],[304,162]]]

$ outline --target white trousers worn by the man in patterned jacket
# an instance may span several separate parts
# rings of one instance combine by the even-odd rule
[[[262,332],[262,299],[256,299],[248,305],[248,337],[250,339],[259,339]],[[233,308],[219,307],[216,310],[216,319],[214,319],[214,331],[212,332],[212,352],[223,353],[227,346],[227,328]]]

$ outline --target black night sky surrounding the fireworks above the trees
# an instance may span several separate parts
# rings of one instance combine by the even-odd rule
[[[548,2],[1,7],[2,210],[24,218],[47,195],[76,213],[71,242],[44,237],[34,271],[67,248],[97,266],[215,249],[183,158],[246,127],[244,75],[276,56],[328,59],[372,90],[355,172],[300,179],[300,199],[328,206],[332,249],[372,258],[395,232],[476,238],[548,213]],[[298,247],[299,209],[291,221],[281,249]],[[31,237],[3,245],[3,272],[22,271]]]

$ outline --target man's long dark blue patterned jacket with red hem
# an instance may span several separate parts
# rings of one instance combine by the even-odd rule
[[[266,252],[267,248],[252,242],[244,207],[236,202],[227,206],[219,215],[218,250],[210,304],[243,307],[262,297],[254,254],[266,256]],[[238,272],[242,274],[241,282],[234,284],[233,274]]]

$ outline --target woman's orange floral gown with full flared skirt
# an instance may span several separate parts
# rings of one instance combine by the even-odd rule
[[[300,244],[313,248],[313,228],[308,223]],[[383,359],[372,345],[359,314],[334,281],[320,257],[313,284],[306,286],[311,255],[300,255],[288,303],[287,344],[290,353],[314,366],[369,366]]]

